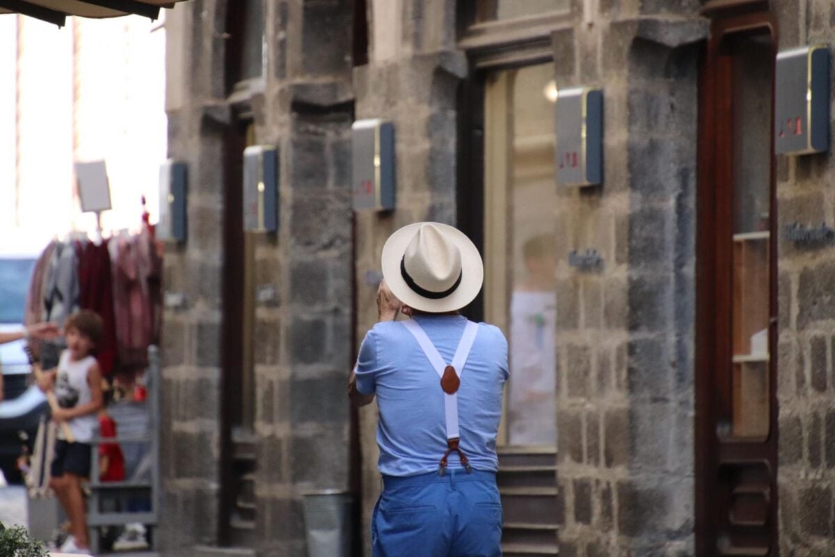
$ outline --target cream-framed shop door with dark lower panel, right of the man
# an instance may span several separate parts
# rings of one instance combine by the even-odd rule
[[[498,438],[504,554],[557,549],[554,64],[485,73],[483,317],[509,342]]]

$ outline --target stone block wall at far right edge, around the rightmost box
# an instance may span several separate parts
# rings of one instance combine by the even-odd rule
[[[780,48],[831,43],[831,3],[778,8]],[[832,132],[830,132],[832,133]],[[835,248],[787,241],[787,225],[835,223],[832,154],[777,157],[780,549],[835,553]]]

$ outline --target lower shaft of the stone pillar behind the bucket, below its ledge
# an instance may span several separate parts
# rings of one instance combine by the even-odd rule
[[[334,160],[350,111],[291,114],[282,143],[281,230],[256,253],[275,306],[256,309],[258,529],[266,554],[305,555],[301,496],[349,488],[352,220]],[[263,284],[263,283],[260,283]]]

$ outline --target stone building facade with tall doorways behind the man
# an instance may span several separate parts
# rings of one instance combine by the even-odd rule
[[[526,417],[511,379],[500,438],[505,493],[543,512],[505,504],[505,554],[835,550],[835,256],[782,232],[835,221],[831,157],[726,139],[762,136],[769,57],[825,43],[833,13],[817,0],[178,6],[167,110],[189,238],[165,259],[163,553],[306,554],[301,502],[321,489],[356,496],[357,554],[369,553],[376,409],[352,411],[345,382],[376,318],[382,245],[417,220],[476,241],[487,282],[465,313],[501,325],[512,352],[514,308],[531,292],[555,301],[537,314],[551,352],[537,364],[546,405],[531,407],[549,410]],[[579,86],[604,91],[604,183],[558,187],[549,94]],[[731,97],[742,115],[722,119]],[[392,212],[352,211],[351,125],[367,118],[396,130]],[[242,231],[251,144],[278,151],[274,234]],[[766,205],[757,230],[725,237],[717,200],[742,203],[727,174],[737,155]],[[740,309],[716,287],[733,260],[714,248],[763,239],[770,262],[751,273],[764,295]],[[534,285],[536,246],[555,269],[550,298]],[[572,264],[586,250],[600,265]],[[760,334],[774,357],[719,337],[741,327],[721,308],[762,314],[741,337]]]

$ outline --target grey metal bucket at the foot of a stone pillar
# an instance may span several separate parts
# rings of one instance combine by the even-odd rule
[[[351,557],[353,495],[336,489],[304,494],[308,557]]]

